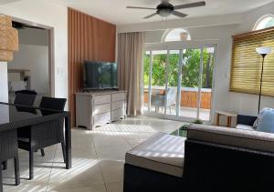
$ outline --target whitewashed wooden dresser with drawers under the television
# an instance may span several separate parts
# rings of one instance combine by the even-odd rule
[[[127,91],[91,91],[76,94],[76,126],[90,130],[126,116]]]

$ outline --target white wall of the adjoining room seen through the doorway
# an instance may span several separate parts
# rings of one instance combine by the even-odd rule
[[[8,69],[30,70],[30,89],[49,95],[48,75],[48,31],[34,28],[19,29],[19,51],[14,60],[8,62]],[[9,81],[16,81],[8,74]]]

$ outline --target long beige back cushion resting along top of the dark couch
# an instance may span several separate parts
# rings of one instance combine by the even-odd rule
[[[187,138],[274,153],[274,134],[222,126],[190,125]]]

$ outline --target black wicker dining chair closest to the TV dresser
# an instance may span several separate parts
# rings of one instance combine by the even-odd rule
[[[40,108],[63,111],[66,105],[66,98],[52,98],[43,96]],[[47,110],[41,110],[46,115]],[[65,161],[64,121],[49,121],[46,124],[19,128],[18,147],[29,152],[29,179],[34,177],[33,153],[41,149],[42,156],[45,156],[44,147],[61,143]]]

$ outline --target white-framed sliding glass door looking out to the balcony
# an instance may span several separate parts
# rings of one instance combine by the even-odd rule
[[[147,51],[144,114],[209,121],[215,52],[215,45]]]

